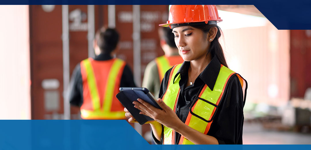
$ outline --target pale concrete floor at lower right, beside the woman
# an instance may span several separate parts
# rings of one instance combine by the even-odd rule
[[[311,134],[266,130],[261,124],[244,122],[243,144],[311,144]]]

